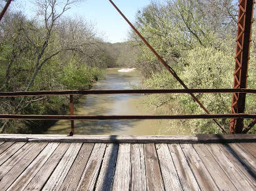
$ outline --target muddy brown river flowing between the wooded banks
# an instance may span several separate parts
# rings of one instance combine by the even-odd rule
[[[140,85],[142,77],[136,70],[117,72],[120,68],[107,69],[106,78],[92,86],[92,90],[124,90],[131,85]],[[155,114],[146,109],[142,95],[85,95],[75,105],[79,115],[144,115]],[[159,113],[157,113],[159,114]],[[167,114],[167,113],[161,113]],[[181,128],[170,128],[169,120],[110,120],[75,121],[75,134],[114,134],[114,135],[189,135]],[[57,121],[46,134],[68,134],[70,121]]]

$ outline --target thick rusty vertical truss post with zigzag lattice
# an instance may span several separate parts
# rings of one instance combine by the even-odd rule
[[[237,21],[237,45],[235,54],[234,88],[247,88],[247,75],[252,35],[254,0],[239,1],[239,17]],[[232,98],[232,114],[244,113],[246,93],[234,93]],[[242,133],[244,119],[230,120],[230,134]]]

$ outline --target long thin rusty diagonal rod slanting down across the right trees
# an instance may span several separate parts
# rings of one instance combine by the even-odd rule
[[[162,63],[162,65],[164,65],[164,67],[172,74],[172,76],[180,83],[180,85],[182,85],[185,89],[189,89],[187,87],[187,85],[185,85],[185,83],[180,79],[180,77],[177,75],[177,73],[175,72],[175,70],[170,67],[165,61],[164,59],[154,50],[154,48],[149,44],[149,42],[147,42],[147,40],[145,40],[145,38],[140,34],[140,32],[132,25],[132,23],[126,18],[126,16],[124,16],[124,14],[120,11],[120,9],[116,6],[116,4],[114,4],[113,1],[109,0],[111,2],[111,4],[115,7],[115,9],[117,10],[117,12],[119,12],[119,14],[121,14],[121,16],[124,18],[124,20],[126,20],[126,22],[129,24],[130,27],[132,27],[132,29],[135,31],[135,33],[137,35],[139,35],[140,39],[145,43],[145,45],[147,45],[147,47],[149,47],[149,49],[154,53],[154,55],[159,59],[159,61]],[[201,101],[199,101],[199,99],[193,94],[193,93],[189,93],[190,96],[192,96],[192,99],[197,102],[200,106],[200,108],[202,108],[205,113],[210,114],[210,112],[208,111],[207,108],[205,108],[205,106],[201,103]],[[217,126],[219,126],[220,129],[222,129],[222,131],[224,133],[225,130],[224,128],[222,128],[222,126],[218,123],[218,121],[216,119],[212,119],[214,120],[214,122],[217,124]]]

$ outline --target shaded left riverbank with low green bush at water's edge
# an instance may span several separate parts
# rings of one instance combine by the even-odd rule
[[[83,74],[81,73],[83,72]],[[104,72],[96,67],[84,67],[64,71],[62,78],[58,79],[62,90],[89,90],[97,80],[104,78]],[[59,87],[58,87],[59,88]],[[81,96],[74,96],[74,103],[79,104]],[[36,96],[36,101],[27,101],[29,104],[22,110],[21,114],[39,115],[62,115],[69,114],[69,95],[61,96]],[[15,134],[42,134],[48,128],[54,126],[56,121],[47,120],[9,120],[9,126],[2,133]],[[3,123],[0,122],[0,126]]]

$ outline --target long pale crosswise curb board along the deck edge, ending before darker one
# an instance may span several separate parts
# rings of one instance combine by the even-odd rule
[[[0,134],[0,141],[29,142],[91,142],[91,143],[196,143],[196,136],[66,136],[66,135],[17,135]]]

